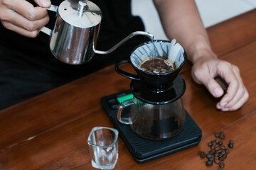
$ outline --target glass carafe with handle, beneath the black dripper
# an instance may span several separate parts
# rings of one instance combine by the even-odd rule
[[[125,117],[124,108],[129,107]],[[183,128],[186,115],[181,98],[165,104],[151,104],[134,97],[121,103],[117,111],[120,123],[130,125],[137,135],[149,140],[165,140],[174,137]]]

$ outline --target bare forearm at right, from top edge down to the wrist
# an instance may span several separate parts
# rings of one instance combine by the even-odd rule
[[[154,4],[167,37],[181,43],[188,60],[195,63],[201,57],[216,57],[194,1],[154,0]]]

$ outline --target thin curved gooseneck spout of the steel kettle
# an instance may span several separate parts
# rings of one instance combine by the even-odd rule
[[[124,38],[123,40],[121,40],[120,42],[117,43],[117,45],[114,45],[114,47],[110,48],[110,50],[107,51],[100,51],[100,50],[96,50],[95,49],[95,45],[93,45],[93,51],[98,54],[98,55],[107,55],[110,54],[110,52],[114,51],[115,49],[117,49],[117,47],[119,47],[120,45],[122,45],[124,42],[126,42],[127,40],[129,40],[130,38],[136,36],[136,35],[144,35],[146,37],[148,37],[150,40],[154,40],[154,35],[147,33],[145,31],[135,31],[133,33],[131,33],[130,35],[128,35],[126,38]]]

